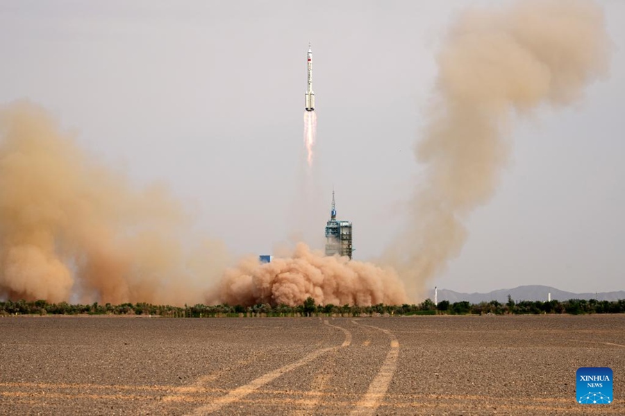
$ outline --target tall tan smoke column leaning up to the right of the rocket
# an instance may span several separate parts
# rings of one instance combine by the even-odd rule
[[[492,198],[508,161],[513,116],[568,105],[608,67],[608,36],[592,1],[527,0],[460,15],[437,57],[435,96],[417,159],[426,166],[408,232],[390,248],[411,292],[467,239],[467,215]]]

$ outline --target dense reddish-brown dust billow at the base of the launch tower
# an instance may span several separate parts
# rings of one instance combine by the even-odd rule
[[[347,257],[324,257],[299,243],[292,256],[261,264],[242,261],[226,271],[216,299],[229,304],[301,304],[313,297],[318,304],[401,304],[403,284],[392,269]],[[213,303],[213,302],[209,302]]]

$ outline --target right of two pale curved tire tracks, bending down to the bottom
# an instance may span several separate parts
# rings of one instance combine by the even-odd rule
[[[371,384],[369,384],[369,389],[365,393],[360,401],[356,404],[356,408],[353,409],[350,415],[373,415],[376,409],[380,406],[382,399],[386,395],[388,390],[388,386],[393,378],[393,374],[397,369],[397,358],[399,357],[399,340],[394,334],[388,329],[382,329],[380,327],[374,327],[372,325],[359,324],[356,320],[352,320],[353,324],[369,327],[373,329],[377,329],[378,331],[382,331],[387,336],[389,336],[390,342],[390,350],[388,354],[386,354],[386,358],[382,363],[382,367],[378,371],[378,374],[374,377]]]

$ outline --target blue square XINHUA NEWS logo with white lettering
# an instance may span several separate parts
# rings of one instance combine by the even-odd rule
[[[581,367],[576,373],[576,392],[579,404],[610,404],[612,397],[612,369],[609,367]]]

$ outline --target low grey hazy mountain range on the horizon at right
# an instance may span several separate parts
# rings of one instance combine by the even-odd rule
[[[472,304],[478,304],[480,302],[490,302],[491,300],[497,300],[497,302],[508,302],[508,295],[512,297],[515,302],[522,300],[541,300],[546,301],[548,294],[551,293],[551,300],[569,300],[569,299],[596,299],[596,300],[619,300],[625,299],[625,291],[618,292],[599,292],[599,293],[572,293],[560,291],[559,289],[552,288],[551,286],[519,286],[513,289],[499,289],[499,291],[492,291],[489,293],[460,293],[449,291],[448,289],[438,289],[438,302],[442,300],[449,300],[449,302],[461,302],[467,300]],[[429,293],[431,300],[434,300],[434,290]]]

